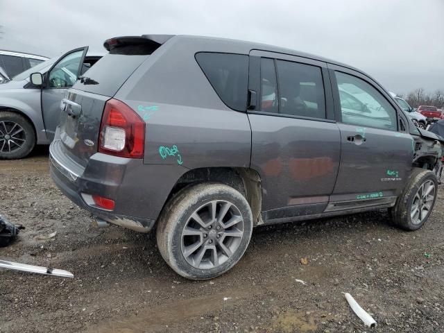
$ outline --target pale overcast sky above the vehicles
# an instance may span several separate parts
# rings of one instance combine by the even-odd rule
[[[0,49],[57,56],[119,35],[250,40],[358,67],[386,89],[444,90],[444,0],[0,0]]]

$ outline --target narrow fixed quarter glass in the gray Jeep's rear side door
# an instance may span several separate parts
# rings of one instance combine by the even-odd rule
[[[261,59],[261,111],[279,112],[278,82],[273,59]]]

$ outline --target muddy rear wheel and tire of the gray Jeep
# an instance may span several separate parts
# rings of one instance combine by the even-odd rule
[[[157,246],[176,273],[216,278],[244,255],[253,231],[246,198],[228,185],[203,183],[178,192],[157,225]]]

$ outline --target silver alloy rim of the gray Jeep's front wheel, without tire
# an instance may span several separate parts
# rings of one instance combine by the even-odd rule
[[[432,210],[435,191],[435,183],[432,180],[427,180],[422,183],[413,198],[413,203],[411,203],[411,223],[420,224],[424,221],[427,214]]]

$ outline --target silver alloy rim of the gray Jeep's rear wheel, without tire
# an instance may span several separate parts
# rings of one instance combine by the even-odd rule
[[[181,250],[199,269],[220,266],[236,253],[244,235],[239,209],[225,200],[212,200],[191,214],[182,230]]]

